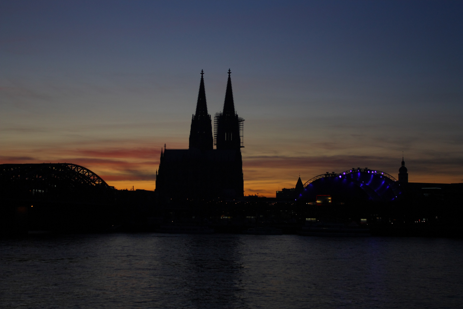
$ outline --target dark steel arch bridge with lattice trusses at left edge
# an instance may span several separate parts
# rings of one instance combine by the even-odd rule
[[[116,190],[83,166],[0,164],[0,230],[101,230],[115,205]]]

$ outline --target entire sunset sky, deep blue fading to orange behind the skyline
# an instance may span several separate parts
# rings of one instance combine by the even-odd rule
[[[230,68],[244,194],[352,167],[463,178],[463,1],[0,1],[0,163],[155,189]]]

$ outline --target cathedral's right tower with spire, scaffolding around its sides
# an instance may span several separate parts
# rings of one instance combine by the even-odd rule
[[[216,148],[219,149],[240,149],[241,139],[240,125],[243,119],[238,117],[235,112],[232,91],[232,72],[228,70],[227,88],[225,90],[224,110],[222,113],[215,114],[214,117],[214,137]]]

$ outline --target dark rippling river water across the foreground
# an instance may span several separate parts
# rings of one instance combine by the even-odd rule
[[[462,308],[463,240],[0,239],[1,308]]]

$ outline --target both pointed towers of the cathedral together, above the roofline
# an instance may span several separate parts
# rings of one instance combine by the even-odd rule
[[[235,113],[233,101],[232,78],[228,70],[227,88],[225,90],[224,109],[217,118],[217,149],[239,149],[238,115]],[[207,114],[206,90],[204,88],[204,72],[201,70],[200,90],[196,103],[196,112],[191,120],[189,148],[201,151],[213,149],[211,115]]]

